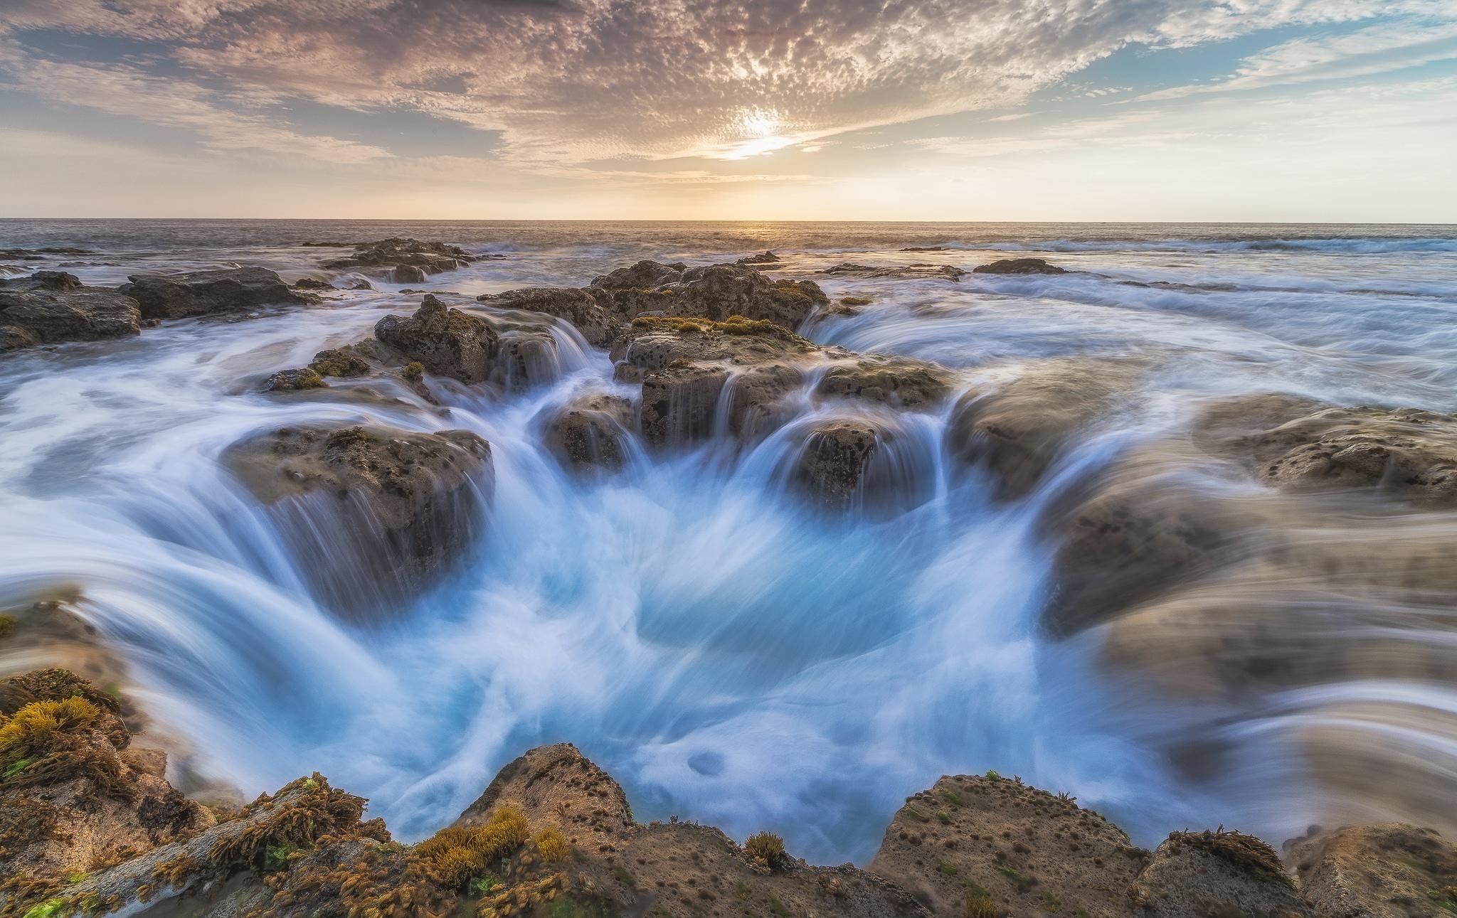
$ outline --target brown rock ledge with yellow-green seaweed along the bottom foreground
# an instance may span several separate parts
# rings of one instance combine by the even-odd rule
[[[214,816],[128,761],[115,704],[64,670],[0,680],[0,915],[1384,918],[1457,903],[1457,850],[1426,829],[1317,831],[1287,845],[1294,871],[1222,829],[1148,852],[995,772],[909,797],[864,870],[814,867],[772,832],[739,845],[643,825],[570,745],[529,750],[452,825],[401,845],[319,774]]]

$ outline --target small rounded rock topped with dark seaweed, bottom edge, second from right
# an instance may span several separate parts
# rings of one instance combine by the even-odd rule
[[[1313,915],[1275,850],[1240,832],[1174,832],[1128,895],[1150,918]]]

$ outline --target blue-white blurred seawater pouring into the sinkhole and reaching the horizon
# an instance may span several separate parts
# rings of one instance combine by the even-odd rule
[[[1142,625],[1043,637],[1055,544],[1037,525],[1088,471],[1186,430],[1215,398],[1457,411],[1457,229],[0,220],[0,248],[98,252],[25,265],[64,262],[90,284],[232,264],[325,277],[331,252],[300,242],[393,235],[504,255],[425,284],[472,296],[766,248],[790,277],[841,261],[969,268],[1037,254],[1085,272],[816,278],[833,297],[874,302],[800,331],[937,360],[966,385],[1049,357],[1141,372],[1116,423],[1090,428],[1010,503],[946,458],[944,412],[890,418],[902,436],[884,474],[912,491],[903,511],[830,520],[785,494],[784,469],[807,425],[844,405],[806,404],[752,449],[718,440],[638,452],[615,476],[565,474],[541,444],[543,411],[621,386],[608,356],[559,323],[551,379],[525,393],[431,380],[437,408],[348,386],[259,392],[267,374],[418,305],[377,280],[325,307],[3,357],[0,605],[82,596],[198,771],[251,794],[319,769],[408,838],[453,817],[522,750],[570,740],[627,785],[640,819],[679,815],[737,836],[772,826],[826,863],[867,858],[900,799],[940,774],[989,768],[1071,791],[1145,844],[1215,823],[1278,842],[1330,817],[1457,820],[1450,592],[1428,590],[1418,608],[1314,561],[1298,577],[1240,574],[1220,599],[1247,603],[1212,625],[1230,641],[1256,634],[1241,612],[1271,608],[1278,581],[1279,608],[1304,616],[1259,622],[1284,638],[1276,653],[1298,662],[1339,646],[1355,663],[1259,691],[1193,675],[1170,691],[1167,673],[1145,682],[1158,660],[1139,657]],[[219,456],[252,431],[313,421],[491,442],[487,532],[457,576],[364,624],[310,599],[297,533],[281,533]],[[1208,474],[1208,459],[1158,458],[1157,474],[1190,493],[1268,507],[1257,485]],[[1288,545],[1386,551],[1393,564],[1435,551],[1457,565],[1451,514],[1332,497],[1265,519]],[[326,535],[316,551],[331,551]],[[1285,602],[1295,581],[1300,602]],[[1391,641],[1394,664],[1362,656]],[[1372,790],[1413,775],[1410,796]]]

